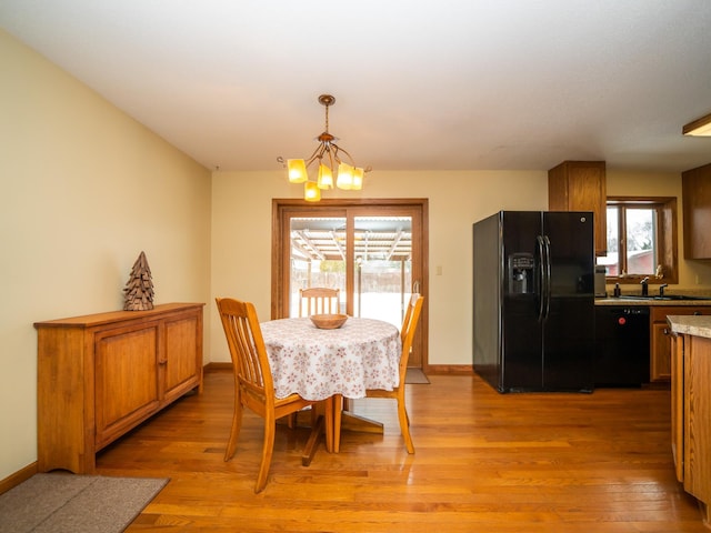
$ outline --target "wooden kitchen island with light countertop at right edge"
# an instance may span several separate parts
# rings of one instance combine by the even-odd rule
[[[711,316],[669,315],[671,428],[677,479],[711,527]]]

